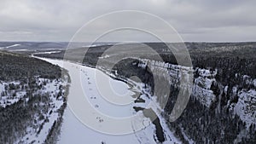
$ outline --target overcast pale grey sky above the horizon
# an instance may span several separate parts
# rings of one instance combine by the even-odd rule
[[[255,6],[255,0],[0,0],[0,41],[68,42],[85,23],[117,10],[158,15],[187,42],[256,41]],[[102,27],[118,27],[117,23],[126,23],[132,18],[133,15],[125,20],[116,18],[118,22],[96,24],[84,35],[96,37],[99,33],[95,32]],[[154,22],[145,25],[140,20],[134,23],[138,27],[154,25]],[[162,27],[154,28],[166,32]],[[130,33],[134,36],[132,40],[150,40],[145,34]],[[109,37],[104,40],[120,41],[131,36],[125,37],[125,32],[121,32]]]

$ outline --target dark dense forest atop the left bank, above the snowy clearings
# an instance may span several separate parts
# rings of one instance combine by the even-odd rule
[[[61,68],[26,55],[0,51],[0,80],[14,81],[26,78],[61,78]]]

